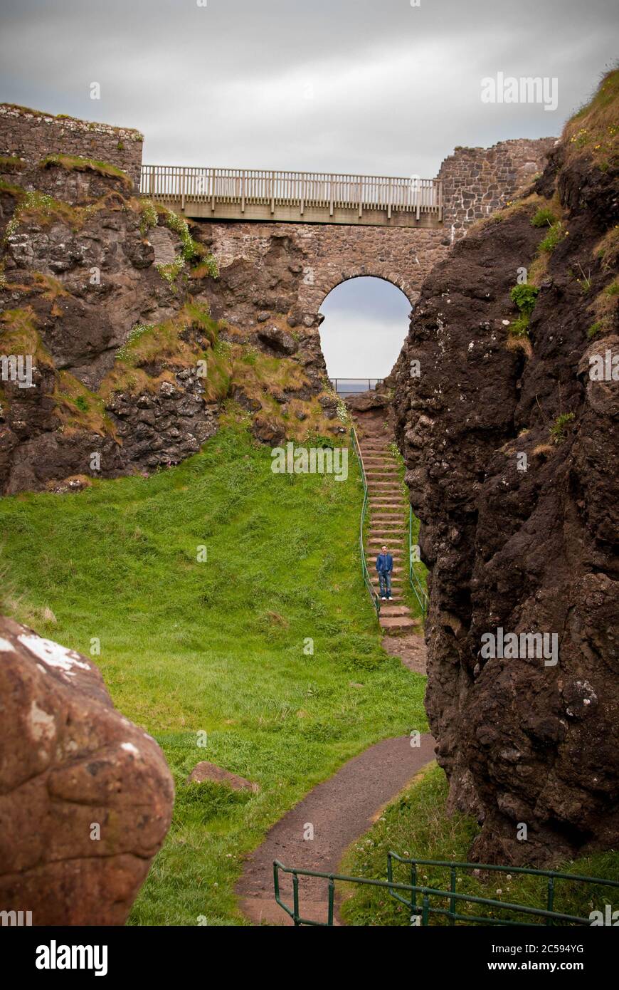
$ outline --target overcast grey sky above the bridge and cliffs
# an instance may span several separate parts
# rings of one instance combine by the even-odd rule
[[[422,177],[457,145],[558,135],[618,22],[616,0],[0,4],[0,100],[138,128],[145,162]],[[483,103],[497,72],[557,77],[557,109]]]

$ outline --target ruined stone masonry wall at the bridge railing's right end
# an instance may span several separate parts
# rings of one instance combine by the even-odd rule
[[[445,228],[452,241],[467,227],[500,210],[542,172],[555,138],[501,141],[491,148],[456,148],[441,164]]]

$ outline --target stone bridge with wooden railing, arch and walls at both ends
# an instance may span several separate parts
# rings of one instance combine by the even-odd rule
[[[137,131],[0,104],[0,153],[36,163],[63,152],[118,165],[142,194],[208,226],[221,268],[245,261],[268,277],[274,250],[290,250],[293,310],[307,327],[318,324],[331,289],[360,275],[392,282],[413,304],[434,263],[541,171],[554,143],[456,148],[433,179],[144,165]]]

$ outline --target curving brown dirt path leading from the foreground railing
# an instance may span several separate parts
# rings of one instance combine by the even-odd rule
[[[254,925],[292,921],[273,897],[273,860],[322,872],[335,872],[351,842],[364,835],[382,808],[416,773],[434,759],[434,740],[421,737],[413,747],[407,736],[383,740],[350,759],[328,780],[318,784],[292,811],[273,826],[247,861],[236,885],[242,912]],[[304,832],[313,827],[313,839]],[[292,905],[292,882],[282,883],[284,900]],[[300,907],[304,917],[326,920],[326,881],[300,878]]]

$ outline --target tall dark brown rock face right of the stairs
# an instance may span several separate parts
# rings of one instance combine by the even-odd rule
[[[436,266],[395,369],[430,568],[427,711],[450,806],[483,822],[482,862],[556,863],[619,839],[619,384],[589,376],[591,357],[619,355],[619,197],[616,171],[577,147]],[[554,249],[539,247],[540,207]],[[517,337],[510,290],[536,266]],[[556,640],[548,660],[520,639],[519,655],[492,655],[499,629]]]

